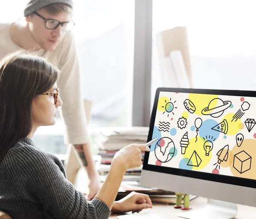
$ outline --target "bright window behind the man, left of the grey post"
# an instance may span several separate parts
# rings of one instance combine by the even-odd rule
[[[1,21],[23,17],[26,0],[0,8]],[[93,101],[89,130],[130,126],[134,58],[134,10],[131,0],[73,0],[83,98]],[[15,5],[15,7],[13,7]],[[12,13],[10,13],[12,12]],[[33,140],[49,153],[64,154],[64,124],[59,114],[52,127],[39,127]]]

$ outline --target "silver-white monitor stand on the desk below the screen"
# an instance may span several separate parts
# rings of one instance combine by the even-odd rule
[[[187,219],[232,219],[237,215],[237,205],[230,202],[222,202],[208,199],[207,205],[199,210],[189,210],[179,213],[177,216]]]

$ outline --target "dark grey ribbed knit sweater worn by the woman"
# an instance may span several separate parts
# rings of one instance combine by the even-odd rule
[[[108,206],[87,202],[67,180],[64,166],[30,138],[20,139],[0,162],[0,210],[12,219],[107,219]]]

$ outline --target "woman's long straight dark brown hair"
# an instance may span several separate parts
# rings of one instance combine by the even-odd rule
[[[0,61],[0,161],[32,130],[32,101],[49,90],[58,68],[45,58],[20,50]]]

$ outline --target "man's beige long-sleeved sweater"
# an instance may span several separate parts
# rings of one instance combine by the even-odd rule
[[[10,26],[11,23],[0,23],[0,60],[10,52],[21,49],[10,38]],[[40,49],[37,53],[45,54],[45,57],[61,70],[57,85],[59,96],[63,101],[61,117],[66,125],[65,144],[88,143],[87,121],[80,91],[78,56],[72,33],[66,33],[54,52],[45,52]]]

